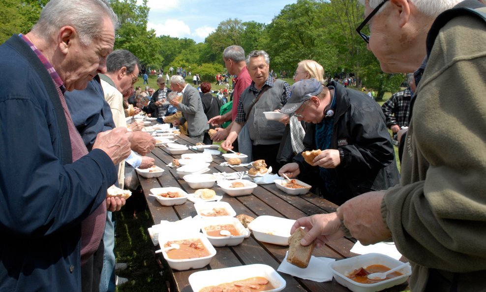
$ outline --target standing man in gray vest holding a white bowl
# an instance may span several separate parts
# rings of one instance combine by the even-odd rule
[[[240,97],[235,123],[221,147],[233,149],[233,142],[246,125],[253,159],[264,159],[274,171],[278,171],[280,165],[276,156],[285,126],[278,121],[267,120],[263,112],[282,108],[290,97],[290,86],[285,81],[274,80],[269,74],[269,66],[270,58],[265,51],[252,51],[246,57],[246,68],[252,81]],[[238,147],[244,153],[240,142]]]

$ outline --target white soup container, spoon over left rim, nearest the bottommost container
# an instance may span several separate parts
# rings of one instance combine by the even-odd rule
[[[187,259],[187,260],[169,259],[167,253],[164,251],[164,244],[167,243],[167,241],[184,240],[184,239],[201,239],[201,242],[204,244],[204,247],[210,252],[210,255],[207,257]],[[204,236],[204,234],[200,232],[184,233],[182,232],[182,230],[181,233],[168,232],[164,234],[159,234],[158,241],[159,241],[160,248],[162,249],[162,255],[164,256],[164,259],[167,260],[167,263],[171,268],[179,271],[188,270],[188,269],[200,269],[202,267],[205,267],[211,262],[211,259],[216,255],[216,250],[214,249],[213,245],[211,245],[211,242],[209,242],[208,238],[206,238],[206,236]]]

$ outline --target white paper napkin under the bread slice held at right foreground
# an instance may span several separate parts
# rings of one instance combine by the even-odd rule
[[[333,280],[333,272],[329,268],[329,263],[335,261],[334,259],[316,258],[312,256],[309,265],[303,269],[288,262],[288,254],[289,252],[285,255],[280,266],[278,266],[277,271],[315,282],[327,282]]]

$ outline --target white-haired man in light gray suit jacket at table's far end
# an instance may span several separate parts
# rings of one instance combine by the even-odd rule
[[[184,124],[187,121],[187,135],[197,142],[202,143],[204,132],[209,129],[208,118],[204,113],[203,102],[197,89],[185,83],[180,75],[174,75],[170,79],[172,91],[182,93],[182,101],[174,98],[170,103],[182,112],[182,118],[172,122],[174,127]]]

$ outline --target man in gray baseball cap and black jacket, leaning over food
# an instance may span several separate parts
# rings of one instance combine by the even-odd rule
[[[314,166],[297,154],[294,162],[280,168],[280,175],[314,178],[318,193],[338,205],[398,184],[393,144],[378,103],[334,81],[326,87],[316,79],[304,79],[291,92],[280,112],[309,123],[304,151],[322,152]]]

